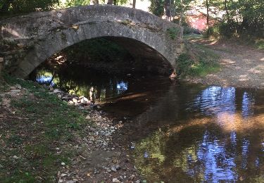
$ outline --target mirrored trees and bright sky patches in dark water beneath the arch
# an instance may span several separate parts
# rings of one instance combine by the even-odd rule
[[[124,94],[129,88],[128,80],[123,76],[95,72],[78,65],[65,65],[58,70],[40,68],[31,77],[39,83],[59,87],[70,94],[87,96],[94,102]]]

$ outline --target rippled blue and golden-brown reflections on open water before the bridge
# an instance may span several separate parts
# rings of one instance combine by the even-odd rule
[[[130,138],[137,142],[135,162],[142,174],[150,182],[264,182],[264,111],[255,110],[263,108],[259,99],[264,92],[234,87],[197,92],[189,85],[181,89],[172,87],[137,117],[134,125],[141,130],[155,125],[163,129]],[[168,106],[178,115],[156,115]]]

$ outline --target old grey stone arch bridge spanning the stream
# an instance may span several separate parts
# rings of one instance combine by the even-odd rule
[[[134,58],[165,61],[172,67],[184,49],[179,25],[122,6],[78,6],[36,12],[1,20],[0,25],[0,42],[14,48],[0,50],[4,69],[24,78],[54,53],[96,37],[117,42]]]

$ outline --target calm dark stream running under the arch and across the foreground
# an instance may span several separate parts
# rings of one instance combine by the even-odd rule
[[[264,91],[82,68],[37,73],[39,82],[52,79],[132,118],[120,135],[149,182],[264,182]]]

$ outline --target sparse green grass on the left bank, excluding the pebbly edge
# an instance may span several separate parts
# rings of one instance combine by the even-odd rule
[[[70,149],[57,153],[56,148],[84,135],[82,128],[89,123],[86,113],[35,82],[9,75],[1,78],[0,94],[14,84],[27,90],[11,96],[9,111],[2,112],[23,120],[0,118],[0,182],[56,182],[61,162],[70,165],[75,154]]]

